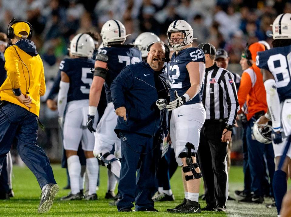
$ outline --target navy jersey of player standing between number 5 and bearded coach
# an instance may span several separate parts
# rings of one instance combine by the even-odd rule
[[[111,83],[125,66],[142,61],[141,52],[137,48],[134,48],[132,45],[119,44],[102,48],[98,51],[98,53],[106,54],[108,56],[108,72],[106,75],[104,87],[107,103],[110,103],[112,102],[110,94]]]

